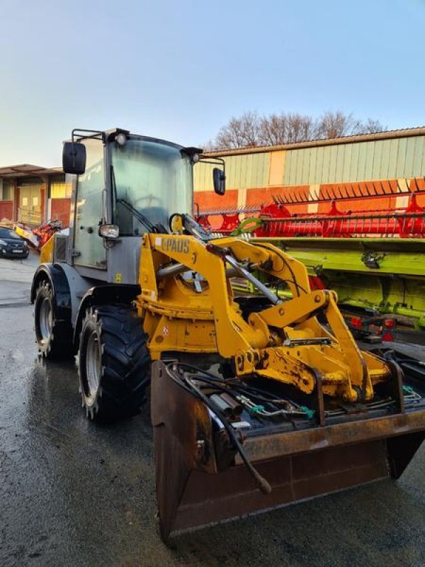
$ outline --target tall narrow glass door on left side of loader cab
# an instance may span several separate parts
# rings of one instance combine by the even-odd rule
[[[89,139],[86,146],[86,171],[77,181],[74,217],[74,264],[106,270],[106,249],[98,228],[103,218],[105,157],[102,140]]]

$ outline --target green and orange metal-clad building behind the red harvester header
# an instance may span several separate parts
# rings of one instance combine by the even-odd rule
[[[414,187],[425,189],[425,128],[246,147],[209,155],[225,159],[227,193],[223,198],[216,196],[212,191],[212,166],[197,165],[195,202],[203,211],[267,204],[276,194],[331,195],[347,185],[351,190],[356,189],[356,184],[367,188],[373,181],[381,182],[382,191],[387,184],[395,183],[407,191]],[[379,204],[386,208],[406,205],[407,196],[388,196]],[[362,203],[353,206],[361,207]],[[353,206],[350,203],[350,208]],[[375,206],[373,199],[367,206]],[[317,210],[317,203],[305,203],[299,212]]]

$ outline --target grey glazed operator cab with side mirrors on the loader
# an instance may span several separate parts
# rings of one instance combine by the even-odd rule
[[[73,130],[64,143],[64,172],[74,174],[67,262],[80,274],[135,283],[140,237],[164,234],[175,213],[192,214],[193,164],[212,169],[217,194],[225,192],[222,159],[128,130]]]

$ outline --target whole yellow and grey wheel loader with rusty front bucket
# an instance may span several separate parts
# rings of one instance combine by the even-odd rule
[[[73,130],[69,235],[43,247],[31,290],[40,354],[77,356],[89,419],[150,395],[164,541],[398,478],[425,437],[425,383],[358,348],[334,291],[311,291],[281,249],[193,220],[203,161],[219,199],[224,164],[195,147]],[[238,296],[241,279],[257,293]]]

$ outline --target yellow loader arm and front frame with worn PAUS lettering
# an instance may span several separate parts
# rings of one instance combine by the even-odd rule
[[[250,275],[253,269],[288,286],[293,298],[282,302]],[[232,277],[244,275],[270,300],[247,318],[231,285]],[[305,266],[273,245],[147,234],[140,286],[138,308],[153,359],[217,354],[237,376],[271,378],[305,394],[319,388],[347,402],[371,400],[373,385],[390,378],[385,362],[358,349],[335,293],[311,291]]]

